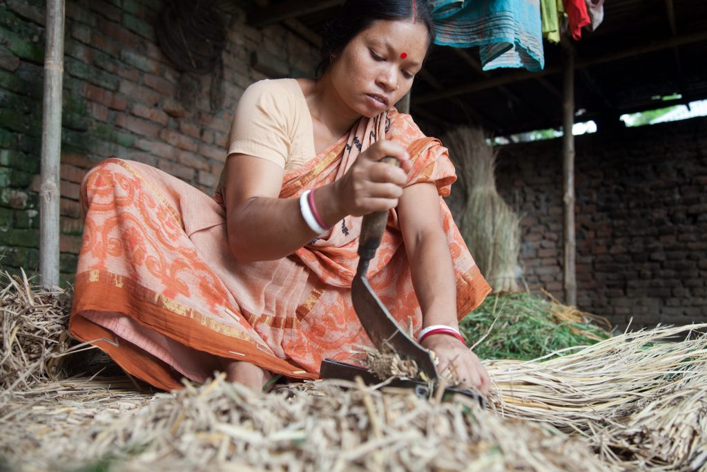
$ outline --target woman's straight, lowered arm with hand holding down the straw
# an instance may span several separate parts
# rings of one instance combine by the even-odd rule
[[[436,185],[410,185],[400,197],[397,211],[423,326],[440,324],[458,329],[454,265],[442,227]],[[436,352],[439,372],[450,369],[457,380],[486,393],[489,374],[460,340],[433,334],[425,338],[423,346]]]

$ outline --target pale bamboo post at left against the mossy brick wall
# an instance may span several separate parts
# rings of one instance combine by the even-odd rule
[[[64,0],[47,0],[42,170],[40,186],[40,275],[59,285],[59,163],[62,153]]]

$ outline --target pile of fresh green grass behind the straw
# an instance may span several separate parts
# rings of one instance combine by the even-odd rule
[[[460,330],[480,359],[537,359],[609,338],[604,318],[549,297],[525,292],[486,297]]]

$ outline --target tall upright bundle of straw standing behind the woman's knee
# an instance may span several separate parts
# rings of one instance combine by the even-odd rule
[[[496,191],[496,151],[480,128],[461,127],[443,143],[457,168],[452,196],[462,195],[457,224],[474,260],[494,292],[518,290],[520,217]]]

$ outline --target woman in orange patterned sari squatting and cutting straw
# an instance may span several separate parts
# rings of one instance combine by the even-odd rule
[[[433,35],[426,1],[347,1],[319,79],[245,91],[214,199],[139,163],[91,171],[71,333],[160,388],[217,369],[257,389],[276,374],[315,379],[322,359],[370,344],[351,280],[361,216],[390,210],[370,284],[440,371],[485,391],[456,333],[489,286],[440,196],[454,168],[392,107]]]

